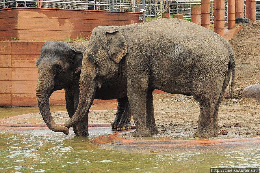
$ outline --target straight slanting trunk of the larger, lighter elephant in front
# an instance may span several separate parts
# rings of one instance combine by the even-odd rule
[[[97,85],[95,65],[90,63],[89,60],[85,61],[87,62],[83,62],[79,80],[79,104],[73,117],[64,124],[68,128],[79,123],[83,117],[87,119],[88,110],[93,103]],[[84,136],[84,134],[79,134],[79,136]]]

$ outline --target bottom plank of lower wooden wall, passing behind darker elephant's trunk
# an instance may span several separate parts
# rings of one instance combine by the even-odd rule
[[[50,97],[51,105],[64,105],[65,94],[53,93]],[[12,94],[12,106],[38,106],[36,94]]]

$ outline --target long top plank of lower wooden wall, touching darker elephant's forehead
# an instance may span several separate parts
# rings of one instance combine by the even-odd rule
[[[45,42],[11,42],[11,54],[40,54],[44,43]]]

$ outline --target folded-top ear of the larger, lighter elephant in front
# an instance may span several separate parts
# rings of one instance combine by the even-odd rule
[[[107,35],[109,40],[107,45],[109,57],[116,63],[119,63],[127,53],[127,42],[125,37],[118,30],[107,31],[105,35]]]

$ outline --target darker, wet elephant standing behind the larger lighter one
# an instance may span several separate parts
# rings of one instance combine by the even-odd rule
[[[66,131],[68,128],[57,125],[49,109],[49,97],[53,91],[64,89],[66,109],[71,118],[79,103],[79,76],[81,72],[83,51],[87,42],[66,43],[46,42],[41,48],[41,55],[36,61],[39,77],[36,88],[37,102],[47,126],[53,131]],[[116,119],[111,124],[118,130],[131,128],[131,111],[126,93],[125,78],[114,77],[100,83],[96,90],[96,99],[117,99]],[[88,136],[88,117],[73,126],[76,135]],[[81,127],[81,128],[78,128]]]

